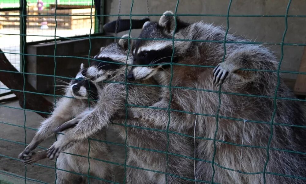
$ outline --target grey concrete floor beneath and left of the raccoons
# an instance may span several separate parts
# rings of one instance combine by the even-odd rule
[[[17,107],[18,101],[7,102],[2,105],[6,105],[9,107]],[[43,120],[38,114],[33,112],[24,112],[19,109],[12,109],[8,107],[0,107],[0,171],[6,171],[14,174],[18,174],[20,176],[26,176],[28,178],[36,179],[39,181],[54,183],[55,180],[55,170],[54,168],[47,168],[38,165],[29,165],[27,167],[21,161],[16,160],[17,156],[21,151],[24,150],[24,140],[26,137],[26,142],[30,143],[32,140],[35,131],[31,129],[25,129],[24,120],[26,127],[29,128],[37,128],[39,126],[39,122]],[[5,123],[15,124],[17,126],[6,125]],[[5,140],[2,140],[5,139]],[[13,143],[9,141],[16,141],[18,143]],[[110,128],[108,131],[108,135],[106,138],[107,141],[123,144],[123,140],[119,139],[116,132]],[[48,139],[44,141],[40,146],[44,148],[49,148],[52,143],[55,141],[55,138]],[[116,163],[124,163],[125,151],[123,146],[110,145],[112,150],[114,162]],[[40,151],[40,148],[37,148],[35,151]],[[3,157],[5,155],[9,158]],[[39,164],[54,167],[55,162],[49,159],[41,160],[38,162]],[[25,172],[25,170],[27,170]],[[3,174],[0,172],[0,174]],[[122,179],[124,177],[124,168],[121,166],[115,166],[115,181],[122,183]],[[0,176],[1,178],[1,176]]]

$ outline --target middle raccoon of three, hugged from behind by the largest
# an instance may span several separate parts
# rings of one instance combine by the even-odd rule
[[[124,82],[125,81],[125,65],[126,55],[129,54],[128,63],[131,64],[133,57],[128,50],[128,36],[124,36],[124,39],[119,40],[118,44],[112,44],[106,48],[102,48],[100,53],[95,56],[95,59],[102,61],[95,61],[91,63],[91,66],[82,71],[82,74],[93,82],[99,82],[103,80]],[[132,43],[130,43],[132,44]],[[132,50],[131,50],[132,51]],[[113,61],[114,63],[106,63],[106,61]],[[121,63],[121,65],[117,64]],[[128,69],[129,71],[129,69]],[[140,84],[157,85],[154,79],[138,82]],[[149,106],[158,102],[161,95],[161,89],[155,86],[143,86],[143,85],[129,85],[128,104]],[[116,113],[122,112],[125,109],[126,89],[125,84],[108,83],[103,86],[103,91],[100,94],[100,100],[95,109],[88,111],[88,114],[84,114],[80,123],[76,127],[67,131],[71,131],[71,134],[66,133],[65,136],[69,136],[65,140],[78,140],[85,136],[90,135],[100,128],[105,128],[112,119],[116,116]],[[99,106],[98,106],[99,105]],[[125,112],[125,110],[123,110]],[[82,116],[81,116],[82,117]],[[123,117],[124,119],[125,117]],[[118,124],[124,125],[124,121],[115,120]],[[125,127],[122,125],[115,125],[115,129],[118,130],[119,135],[125,139]],[[127,165],[132,167],[139,167],[140,169],[127,167],[127,183],[133,184],[149,184],[149,183],[164,183],[165,174],[160,172],[166,172],[166,155],[157,151],[166,151],[167,136],[165,131],[154,131],[150,129],[161,129],[162,127],[151,125],[146,121],[131,120],[127,121],[127,144],[132,147],[129,148]],[[136,127],[131,127],[136,126]],[[69,127],[63,125],[64,127]],[[140,127],[140,128],[138,128]],[[149,128],[149,130],[147,129]],[[61,129],[61,128],[60,128]],[[163,129],[163,128],[162,128]],[[164,129],[163,129],[164,130]],[[190,183],[190,181],[181,179],[181,177],[192,178],[193,172],[189,170],[192,167],[192,159],[185,158],[192,157],[192,140],[184,136],[169,133],[169,168],[168,173],[175,176],[167,175],[169,183]],[[75,135],[80,135],[76,137]],[[58,142],[61,140],[58,140]],[[68,144],[68,141],[60,143],[60,145],[54,146],[54,150],[61,148],[63,145]],[[53,149],[52,148],[52,149]],[[153,151],[143,150],[150,149]],[[183,156],[175,156],[175,154]],[[53,153],[56,156],[56,153]],[[153,170],[145,171],[141,168]],[[156,171],[156,172],[154,172]]]

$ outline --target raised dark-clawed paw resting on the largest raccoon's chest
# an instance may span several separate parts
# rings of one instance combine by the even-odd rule
[[[230,75],[232,74],[232,71],[230,71],[229,67],[226,63],[219,63],[217,67],[215,67],[213,71],[214,75],[214,85],[220,86],[224,82],[227,81],[227,79],[230,78]]]

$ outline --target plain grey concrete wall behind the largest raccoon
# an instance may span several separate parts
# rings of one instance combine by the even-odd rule
[[[129,14],[131,0],[122,0],[120,14]],[[181,0],[177,14],[225,14],[227,13],[229,0]],[[150,14],[162,14],[166,10],[175,10],[176,0],[149,0]],[[230,14],[258,14],[258,15],[284,15],[288,0],[235,0],[231,4]],[[118,14],[118,0],[106,0],[105,14]],[[294,0],[291,2],[289,15],[305,15],[306,1]],[[146,14],[147,1],[134,0],[132,14]],[[122,17],[129,18],[129,17]],[[133,17],[137,18],[137,17]],[[141,18],[141,17],[139,17]],[[150,17],[158,20],[159,16]],[[186,21],[203,20],[215,25],[226,27],[226,17],[215,16],[188,16],[181,17]],[[106,17],[106,22],[116,20],[117,17]],[[230,33],[243,35],[252,41],[281,43],[285,30],[284,17],[230,17]],[[133,30],[132,36],[138,37],[140,30]],[[123,33],[119,34],[121,36]],[[305,44],[306,18],[289,17],[288,30],[285,43]],[[267,45],[279,57],[281,47],[279,45]],[[281,70],[298,71],[304,46],[284,46],[284,58]],[[295,79],[296,75],[284,74],[285,78]]]

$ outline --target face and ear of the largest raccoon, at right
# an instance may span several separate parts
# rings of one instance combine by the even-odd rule
[[[166,11],[159,22],[146,22],[144,24],[139,38],[146,38],[146,40],[137,40],[133,51],[133,65],[148,66],[133,66],[127,76],[129,80],[148,79],[155,75],[159,68],[170,67],[173,55],[173,42],[171,39],[175,30],[175,18],[172,15],[171,11]],[[181,29],[184,26],[187,26],[187,24],[180,23],[177,28]],[[176,31],[179,29],[176,29]],[[174,53],[172,63],[176,63],[177,58],[177,54]]]

